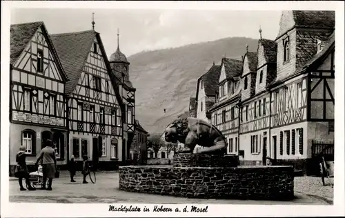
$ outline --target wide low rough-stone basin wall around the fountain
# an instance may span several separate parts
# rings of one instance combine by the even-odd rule
[[[288,200],[294,197],[293,167],[120,166],[119,188],[177,197]]]

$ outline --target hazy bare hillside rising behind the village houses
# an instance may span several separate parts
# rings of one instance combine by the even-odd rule
[[[179,48],[140,52],[128,57],[130,81],[137,88],[135,115],[148,132],[163,132],[177,115],[188,110],[189,97],[195,96],[197,79],[213,61],[241,59],[257,50],[257,39],[219,39]],[[164,114],[164,108],[166,113]]]

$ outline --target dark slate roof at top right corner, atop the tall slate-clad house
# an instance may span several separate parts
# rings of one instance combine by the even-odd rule
[[[300,28],[334,28],[335,11],[293,10],[295,26]]]

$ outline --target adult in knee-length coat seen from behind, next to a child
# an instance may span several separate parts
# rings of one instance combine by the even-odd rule
[[[53,148],[52,140],[48,139],[44,142],[45,147],[39,153],[37,157],[36,166],[39,161],[42,164],[43,170],[43,186],[41,189],[52,190],[52,178],[55,177],[57,171],[57,159],[55,157],[55,150]],[[46,181],[48,178],[48,188],[46,188]]]

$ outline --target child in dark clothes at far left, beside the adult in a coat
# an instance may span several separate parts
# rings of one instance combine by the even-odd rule
[[[28,167],[26,166],[26,146],[20,146],[19,152],[16,156],[17,166],[14,170],[14,176],[18,178],[20,190],[26,190],[23,187],[23,178],[26,179],[26,185],[28,186],[28,190],[36,190],[30,184],[30,175]]]

